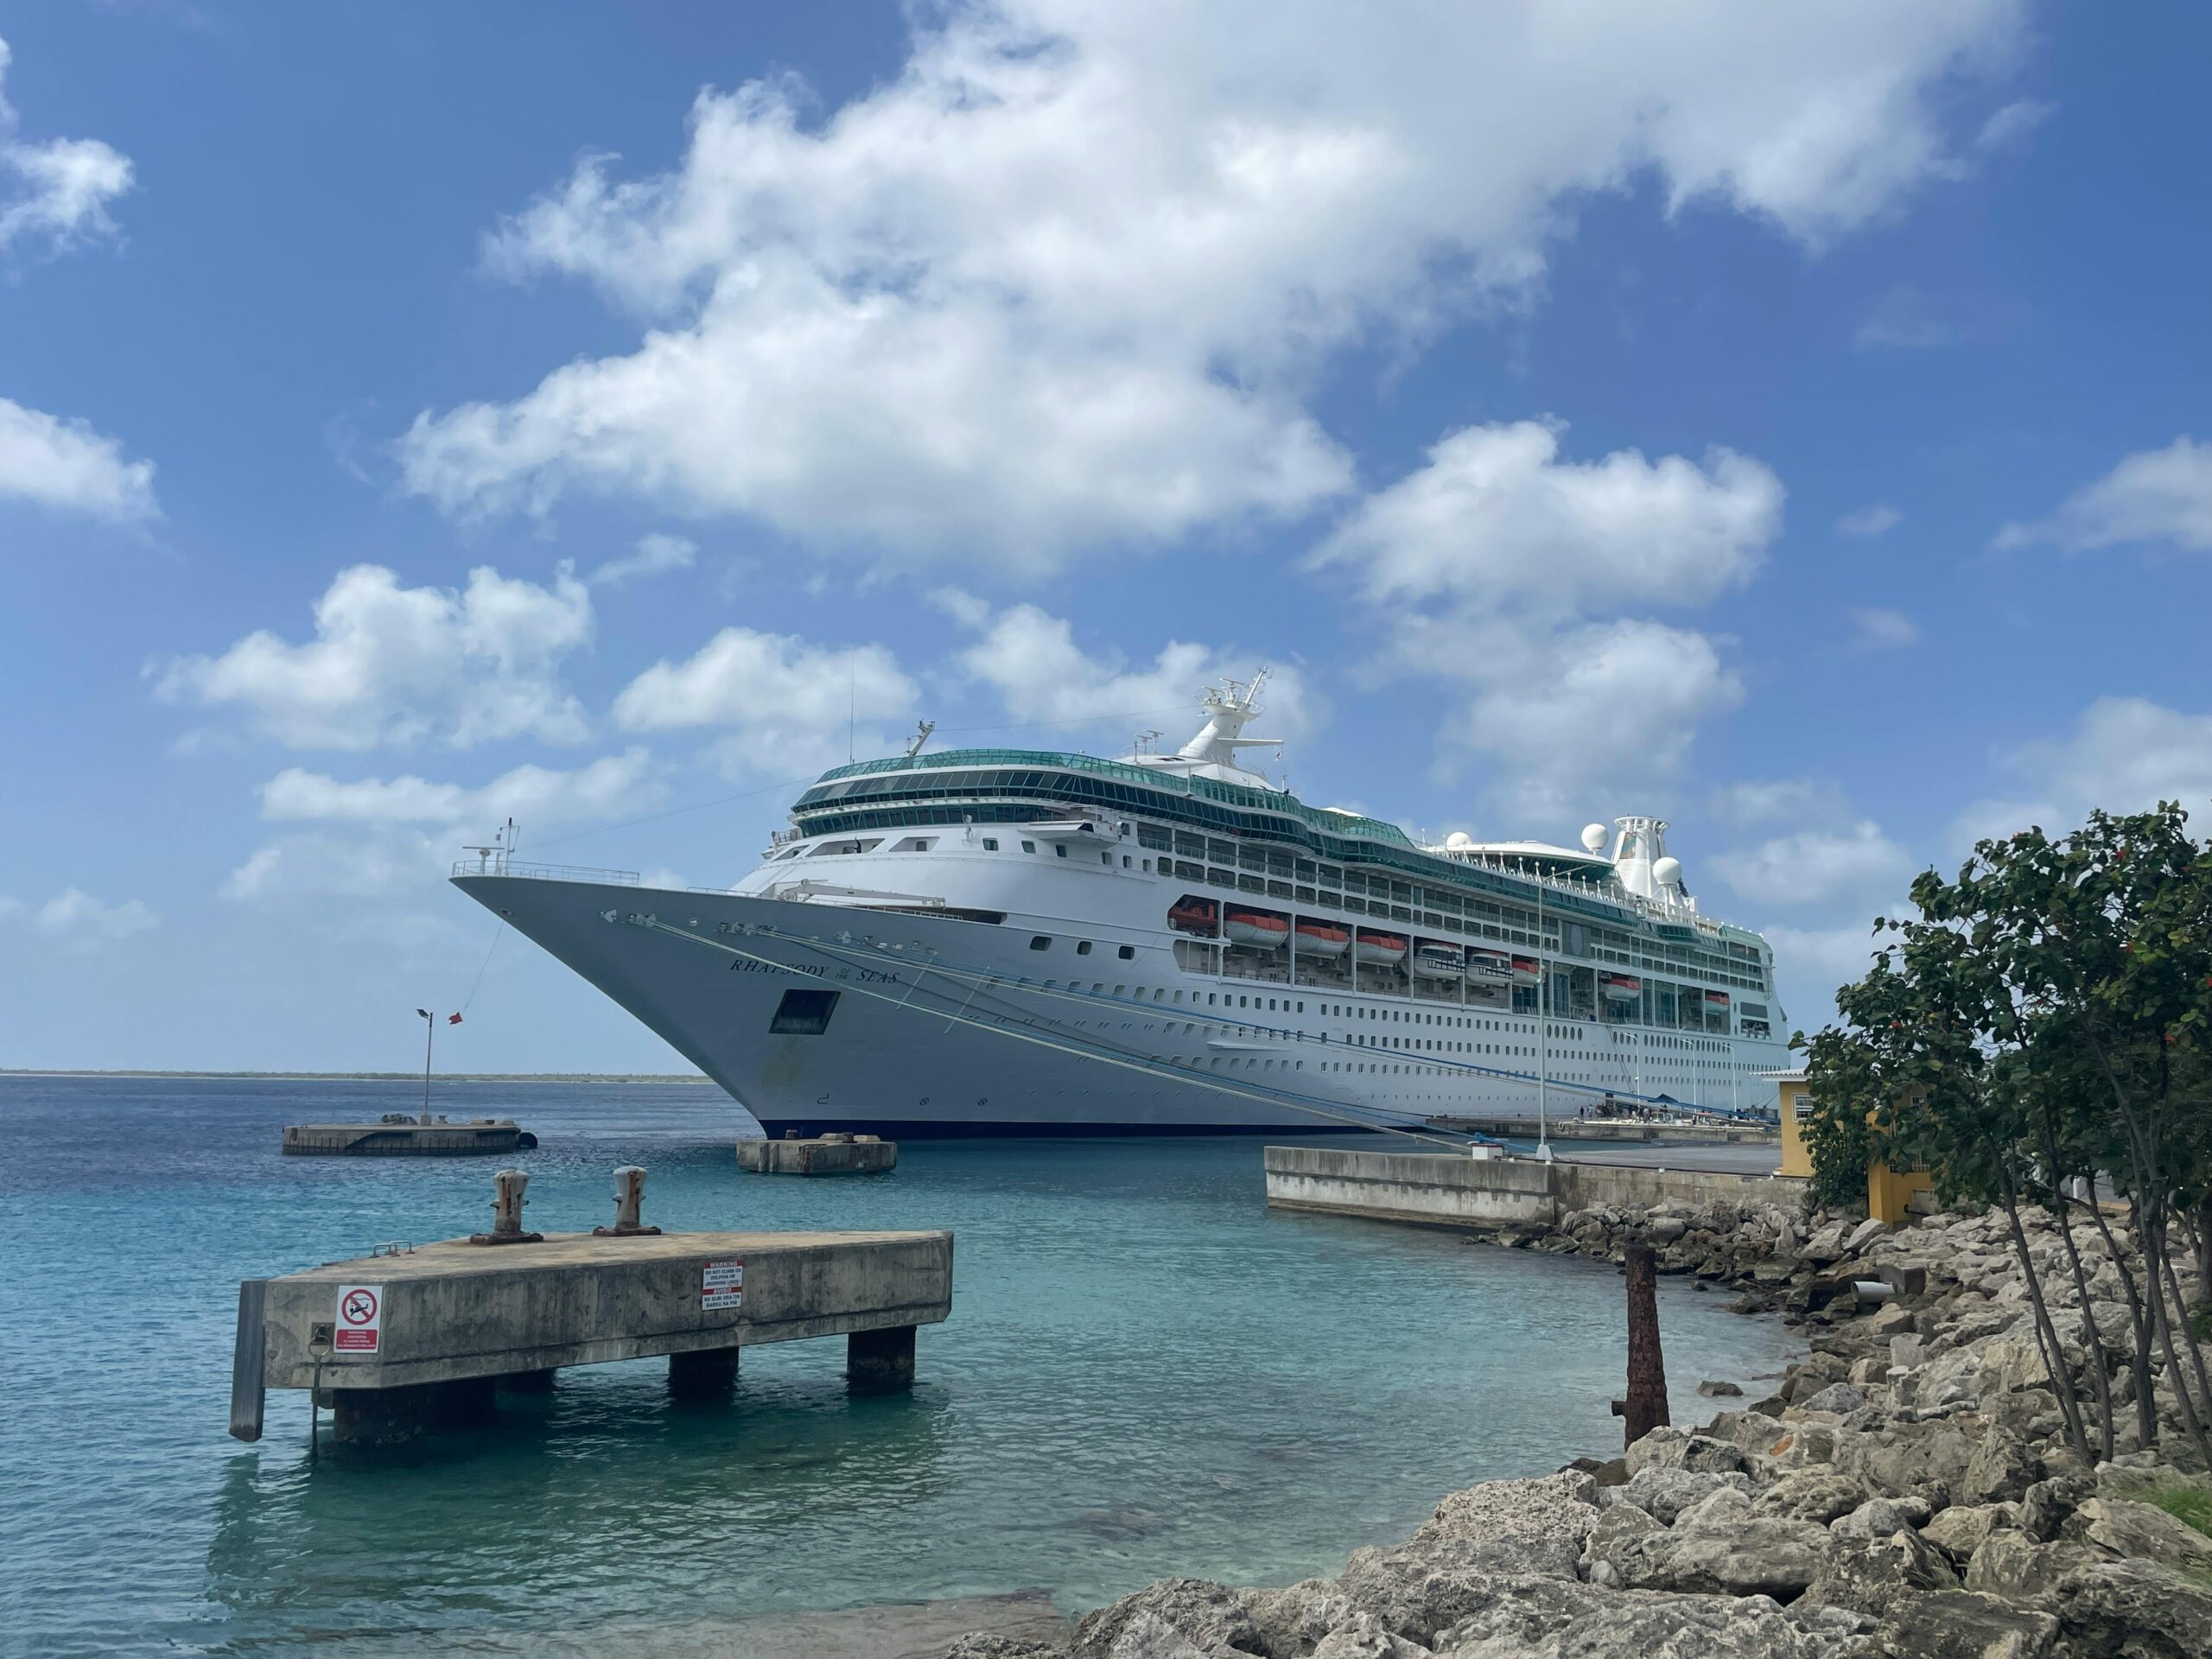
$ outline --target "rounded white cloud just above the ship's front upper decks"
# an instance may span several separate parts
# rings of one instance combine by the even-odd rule
[[[710,728],[732,770],[805,772],[880,748],[916,688],[883,646],[836,650],[752,628],[723,628],[684,661],[657,661],[615,697],[626,732]],[[854,732],[847,737],[847,732]]]

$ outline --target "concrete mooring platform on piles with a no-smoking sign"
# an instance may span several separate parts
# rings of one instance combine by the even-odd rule
[[[230,1433],[263,1389],[321,1387],[347,1442],[482,1422],[500,1387],[564,1365],[668,1358],[679,1394],[728,1391],[741,1349],[847,1338],[856,1391],[914,1380],[914,1329],[951,1314],[949,1232],[553,1232],[334,1261],[239,1287]]]

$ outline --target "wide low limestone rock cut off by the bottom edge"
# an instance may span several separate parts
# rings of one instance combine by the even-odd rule
[[[1440,1648],[1449,1659],[1874,1659],[1871,1621],[1781,1608],[1763,1595],[1606,1597],[1540,1639],[1513,1632]],[[1453,1632],[1458,1635],[1458,1632]]]

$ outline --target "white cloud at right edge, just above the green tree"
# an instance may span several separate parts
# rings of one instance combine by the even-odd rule
[[[2024,743],[2000,757],[1997,770],[2015,787],[1958,816],[1960,847],[2028,825],[2064,834],[2093,807],[2143,812],[2179,801],[2201,821],[2212,807],[2212,714],[2183,714],[2143,697],[2099,697],[2073,730]]]

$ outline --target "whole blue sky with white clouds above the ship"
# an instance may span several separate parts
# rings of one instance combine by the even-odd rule
[[[2212,792],[2199,7],[0,11],[0,1064],[675,1068],[442,883],[1181,739],[1796,1024]],[[852,710],[858,717],[852,717]]]

